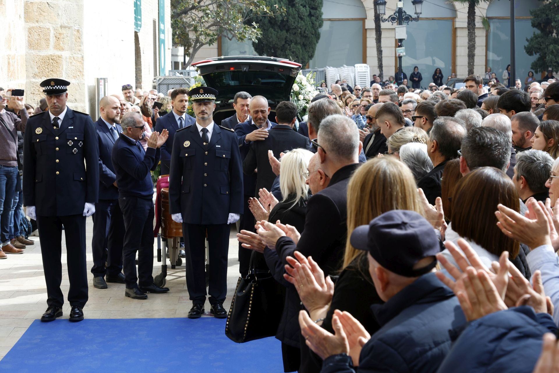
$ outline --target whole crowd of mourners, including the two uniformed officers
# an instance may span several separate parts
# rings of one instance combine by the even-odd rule
[[[293,103],[270,107],[243,91],[220,125],[210,87],[166,98],[125,85],[101,99],[96,122],[66,106],[63,79],[41,83],[45,112],[32,117],[23,97],[0,92],[3,252],[22,250],[10,227],[25,205],[40,228],[41,319],[55,320],[64,226],[76,246],[70,320],[82,320],[84,221],[94,214],[93,286],[120,282],[138,300],[168,292],[152,277],[150,170],[160,162],[184,235],[188,317],[201,317],[207,295],[211,313],[227,317],[239,221],[240,275],[269,271],[282,289],[281,317],[268,321],[286,372],[557,370],[559,82],[527,92],[480,75],[464,83],[320,84],[301,122]]]

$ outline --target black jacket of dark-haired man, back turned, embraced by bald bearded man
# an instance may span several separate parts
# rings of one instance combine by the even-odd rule
[[[268,150],[274,152],[276,158],[280,158],[280,153],[286,150],[297,148],[310,149],[309,138],[296,133],[288,125],[278,124],[268,130],[268,138],[263,141],[253,141],[249,144],[247,157],[243,161],[243,172],[252,175],[254,169],[258,168],[256,174],[256,189],[254,195],[258,196],[261,188],[271,190],[272,184],[276,179],[276,174],[272,171],[272,166],[268,160]]]

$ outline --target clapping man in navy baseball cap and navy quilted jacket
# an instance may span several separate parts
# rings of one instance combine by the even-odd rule
[[[414,211],[392,210],[354,229],[350,243],[368,251],[369,273],[385,301],[371,305],[381,329],[369,336],[347,312],[335,311],[334,330],[345,336],[341,330],[334,336],[301,311],[301,334],[324,359],[321,372],[437,371],[451,348],[449,330],[466,319],[452,290],[435,276],[440,243],[433,226]],[[368,340],[360,354],[348,348],[348,340],[359,337]]]

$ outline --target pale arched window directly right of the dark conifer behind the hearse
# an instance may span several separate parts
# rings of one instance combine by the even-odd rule
[[[340,67],[364,63],[367,12],[361,0],[323,0],[324,25],[309,67]]]

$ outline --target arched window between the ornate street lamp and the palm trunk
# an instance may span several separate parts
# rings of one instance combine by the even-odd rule
[[[404,1],[404,11],[415,17],[411,1]],[[386,13],[389,13],[388,8]],[[436,68],[440,68],[444,75],[443,83],[451,73],[456,73],[455,18],[453,4],[446,0],[430,0],[423,3],[419,21],[412,21],[406,27],[407,39],[402,42],[406,50],[406,55],[402,57],[402,70],[409,78],[414,66],[417,66],[423,75],[421,87],[428,87],[433,82]],[[408,83],[411,86],[411,82]]]

